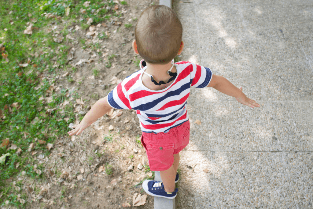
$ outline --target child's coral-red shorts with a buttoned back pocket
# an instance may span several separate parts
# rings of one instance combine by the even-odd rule
[[[188,120],[167,133],[142,132],[141,143],[146,149],[150,170],[167,170],[173,165],[173,154],[182,151],[189,143],[189,130]]]

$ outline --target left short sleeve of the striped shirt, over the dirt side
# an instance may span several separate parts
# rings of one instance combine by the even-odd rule
[[[122,86],[122,83],[119,83],[115,88],[108,94],[107,100],[111,107],[115,109],[127,109],[130,110],[130,102],[127,98],[127,92]]]

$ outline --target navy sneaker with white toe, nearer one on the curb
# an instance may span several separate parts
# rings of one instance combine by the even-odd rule
[[[142,188],[151,196],[164,197],[167,199],[174,199],[177,195],[178,189],[173,192],[166,192],[162,181],[144,180]]]

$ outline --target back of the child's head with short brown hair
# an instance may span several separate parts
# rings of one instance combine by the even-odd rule
[[[137,51],[146,62],[166,64],[180,50],[182,24],[171,8],[152,5],[139,16],[135,38]]]

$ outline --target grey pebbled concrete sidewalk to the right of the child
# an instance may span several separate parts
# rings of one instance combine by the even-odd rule
[[[191,90],[177,208],[313,208],[313,1],[176,0],[173,9],[182,60],[261,105]]]

